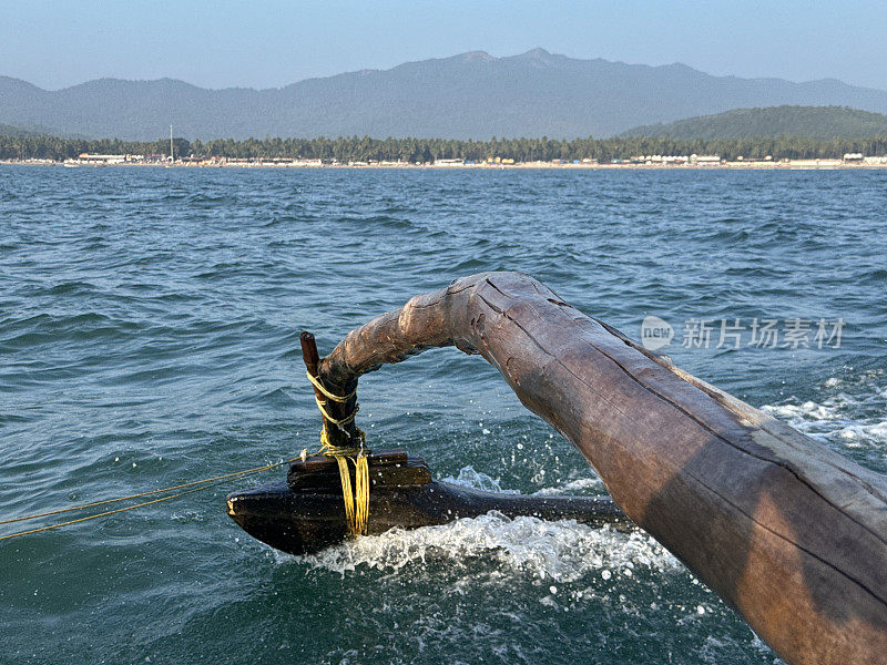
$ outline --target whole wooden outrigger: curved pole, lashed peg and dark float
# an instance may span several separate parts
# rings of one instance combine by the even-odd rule
[[[489,495],[432,481],[402,451],[368,453],[355,423],[358,378],[445,346],[493,365],[582,452],[621,511],[593,499]],[[490,509],[592,523],[619,523],[624,511],[792,665],[887,663],[887,478],[531,277],[457,279],[353,330],[323,359],[310,336],[303,351],[326,454],[295,461],[286,483],[228,497],[228,514],[268,544],[313,551],[349,531]]]

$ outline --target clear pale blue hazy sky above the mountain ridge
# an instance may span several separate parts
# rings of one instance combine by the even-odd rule
[[[0,0],[0,75],[48,89],[101,76],[275,88],[534,47],[887,89],[887,2]]]

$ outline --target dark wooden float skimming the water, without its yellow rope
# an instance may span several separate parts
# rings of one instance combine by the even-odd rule
[[[446,524],[493,510],[507,518],[630,525],[609,498],[524,497],[431,480],[425,460],[405,450],[371,453],[369,484],[368,534]],[[348,535],[338,466],[325,456],[293,462],[286,482],[232,493],[227,512],[249,535],[289,554],[312,554]]]

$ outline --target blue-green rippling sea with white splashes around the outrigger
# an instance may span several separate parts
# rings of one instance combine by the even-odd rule
[[[300,330],[328,352],[498,269],[634,338],[659,316],[679,366],[886,472],[886,211],[875,171],[0,166],[0,520],[315,447]],[[360,387],[370,446],[438,478],[603,492],[479,358]],[[0,663],[777,662],[642,532],[490,514],[276,553],[224,498],[283,474],[0,541]]]

